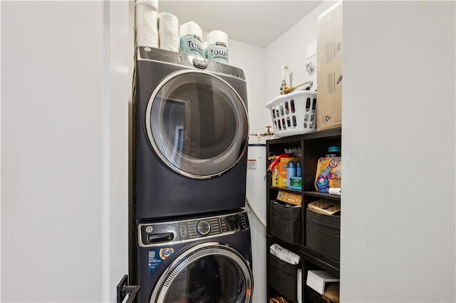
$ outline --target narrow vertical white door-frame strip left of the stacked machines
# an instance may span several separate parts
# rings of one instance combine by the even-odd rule
[[[128,274],[128,121],[132,96],[129,1],[105,1],[105,197],[103,252],[103,302],[115,302],[120,278]],[[109,22],[106,22],[108,19]],[[108,241],[108,242],[107,242]]]

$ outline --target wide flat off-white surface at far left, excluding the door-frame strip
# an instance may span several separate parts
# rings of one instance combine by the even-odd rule
[[[3,302],[101,300],[98,16],[103,2],[1,3]]]

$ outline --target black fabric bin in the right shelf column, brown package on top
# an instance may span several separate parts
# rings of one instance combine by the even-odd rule
[[[306,209],[306,247],[321,255],[340,259],[341,216],[327,216]]]

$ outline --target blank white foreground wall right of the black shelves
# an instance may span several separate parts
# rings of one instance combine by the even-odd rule
[[[455,2],[344,1],[341,302],[455,302]]]

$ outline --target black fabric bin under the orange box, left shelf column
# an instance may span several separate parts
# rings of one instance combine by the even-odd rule
[[[272,200],[271,235],[289,244],[301,243],[301,206]]]

